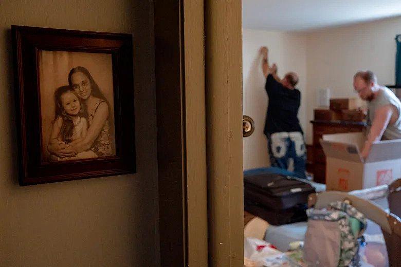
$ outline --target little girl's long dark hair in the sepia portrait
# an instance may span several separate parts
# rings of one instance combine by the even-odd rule
[[[74,93],[75,96],[77,96],[77,93],[74,91],[74,89],[72,89],[68,85],[57,88],[57,90],[54,92],[54,103],[56,105],[56,112],[54,115],[53,123],[56,123],[58,117],[61,117],[61,119],[63,119],[63,124],[60,129],[60,135],[64,142],[69,143],[72,141],[72,135],[74,135],[74,121],[72,121],[72,117],[68,115],[68,113],[65,111],[63,103],[61,101],[61,96],[63,95],[63,93],[66,92]],[[86,112],[86,106],[78,96],[77,99],[81,104],[81,108],[77,116],[83,117],[87,120],[88,116]]]

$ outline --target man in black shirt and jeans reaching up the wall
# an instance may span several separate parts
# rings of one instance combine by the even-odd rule
[[[267,47],[261,47],[260,53],[263,55],[262,70],[268,96],[264,134],[267,137],[270,164],[305,178],[306,148],[297,117],[301,93],[295,88],[298,75],[288,72],[280,79],[276,64],[269,66]]]

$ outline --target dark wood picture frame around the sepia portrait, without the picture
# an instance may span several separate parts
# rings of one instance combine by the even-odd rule
[[[20,185],[136,173],[132,34],[12,26]],[[116,155],[44,162],[38,52],[112,56]]]

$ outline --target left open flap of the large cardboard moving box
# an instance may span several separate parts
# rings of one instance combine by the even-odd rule
[[[333,141],[320,140],[326,157],[347,160],[352,162],[363,162],[359,148],[356,144],[345,144]]]

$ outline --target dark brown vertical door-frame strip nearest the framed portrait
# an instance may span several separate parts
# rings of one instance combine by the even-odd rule
[[[187,266],[183,3],[154,1],[161,266]]]

